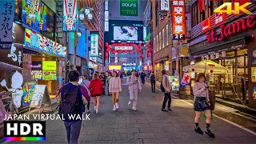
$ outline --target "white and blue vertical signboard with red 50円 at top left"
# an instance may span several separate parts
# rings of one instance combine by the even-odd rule
[[[78,0],[63,0],[63,30],[78,29]]]

